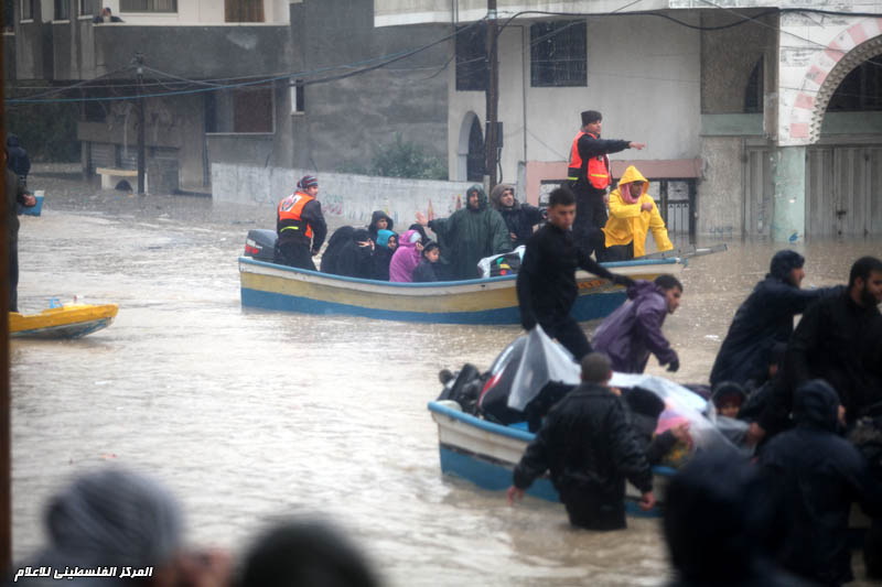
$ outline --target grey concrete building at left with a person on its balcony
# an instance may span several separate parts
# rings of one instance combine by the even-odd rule
[[[315,173],[365,167],[399,134],[444,153],[447,78],[432,75],[447,59],[443,44],[359,70],[443,37],[449,24],[375,29],[372,2],[356,0],[11,6],[7,80],[86,81],[55,96],[84,99],[77,137],[88,175],[137,167],[139,53],[150,191],[204,191],[213,162]],[[94,22],[103,7],[122,22]]]

